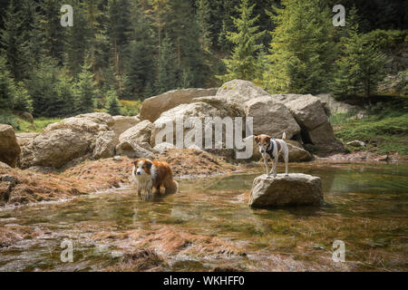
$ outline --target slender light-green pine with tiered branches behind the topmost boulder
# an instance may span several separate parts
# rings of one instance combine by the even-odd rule
[[[258,39],[265,34],[264,31],[257,32],[258,15],[252,18],[252,11],[255,5],[249,6],[248,0],[242,0],[237,10],[239,18],[233,18],[238,30],[237,33],[228,32],[227,39],[235,44],[230,59],[224,59],[227,66],[227,74],[219,76],[219,79],[228,82],[234,79],[253,81],[257,78],[259,63],[257,53],[262,49],[262,44],[258,44]]]

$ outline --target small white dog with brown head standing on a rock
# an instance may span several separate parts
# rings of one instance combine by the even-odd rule
[[[289,161],[289,150],[287,149],[287,142],[285,139],[287,134],[284,132],[282,139],[275,139],[268,135],[259,135],[255,137],[255,141],[259,146],[259,153],[262,154],[264,159],[264,164],[267,169],[267,175],[270,176],[273,173],[274,178],[277,177],[277,160],[279,159],[279,153],[283,152],[285,160],[285,175],[287,176],[287,162]],[[273,162],[273,167],[269,172],[267,168],[267,157],[269,157]]]

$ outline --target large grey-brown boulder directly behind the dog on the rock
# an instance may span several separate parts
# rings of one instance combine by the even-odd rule
[[[299,125],[287,107],[268,95],[246,102],[245,113],[248,117],[254,118],[255,135],[267,134],[282,138],[283,132],[286,132],[287,139],[291,139],[300,133]]]

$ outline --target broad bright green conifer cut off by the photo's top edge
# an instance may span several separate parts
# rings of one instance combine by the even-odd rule
[[[275,7],[268,70],[264,87],[270,92],[313,93],[326,90],[335,59],[334,26],[325,0],[282,0]]]

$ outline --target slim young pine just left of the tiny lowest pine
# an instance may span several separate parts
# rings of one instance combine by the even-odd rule
[[[91,64],[85,63],[76,83],[76,111],[90,112],[93,110],[94,85]]]

